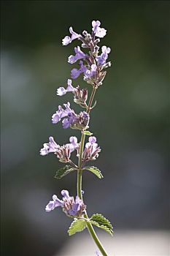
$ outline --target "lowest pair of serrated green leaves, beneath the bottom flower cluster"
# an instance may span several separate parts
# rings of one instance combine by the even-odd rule
[[[106,219],[101,214],[93,214],[93,216],[88,220],[92,225],[96,225],[97,227],[100,227],[107,231],[112,236],[112,225],[109,222],[108,219]],[[87,227],[87,221],[85,219],[74,219],[71,226],[69,227],[68,233],[69,236],[74,235],[77,232],[81,232],[82,230]]]

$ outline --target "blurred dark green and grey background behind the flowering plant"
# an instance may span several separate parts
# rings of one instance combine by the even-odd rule
[[[70,135],[80,138],[80,132],[52,124],[51,116],[72,100],[68,94],[57,97],[56,89],[70,78],[67,59],[77,42],[64,47],[61,39],[69,26],[77,33],[90,31],[92,20],[107,29],[100,45],[112,48],[112,67],[90,119],[102,148],[91,164],[104,179],[83,176],[88,213],[104,214],[114,225],[114,238],[106,235],[110,248],[121,234],[127,242],[129,230],[152,230],[162,234],[152,244],[169,255],[169,1],[1,1],[3,256],[65,256],[68,243],[86,237],[85,231],[69,238],[71,219],[61,209],[45,212],[61,189],[76,195],[76,173],[56,180],[63,165],[53,154],[41,157],[39,149],[50,135],[60,144]],[[77,84],[87,86],[82,76]],[[87,239],[93,255],[95,246]],[[140,246],[146,251],[138,254],[149,255],[146,244]],[[123,240],[120,248],[127,248]],[[83,253],[77,249],[72,255]]]

